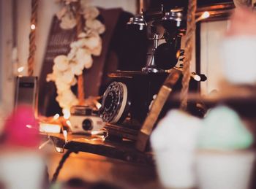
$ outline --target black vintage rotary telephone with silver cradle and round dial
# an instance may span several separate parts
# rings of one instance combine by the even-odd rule
[[[148,60],[141,72],[116,71],[109,74],[113,82],[108,85],[102,98],[100,115],[107,123],[110,134],[135,139],[136,132],[143,124],[154,96],[172,70],[179,73],[174,80],[181,88],[181,71],[174,68],[184,55],[181,37],[186,31],[183,9],[146,11],[130,18],[128,27],[147,30],[148,39],[153,40],[148,50]],[[182,61],[182,60],[181,60]],[[192,89],[197,88],[197,80],[191,81]],[[131,130],[129,130],[131,129]]]

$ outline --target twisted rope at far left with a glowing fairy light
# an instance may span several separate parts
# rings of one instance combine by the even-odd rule
[[[36,28],[37,28],[37,7],[38,0],[31,0],[31,26],[29,34],[29,58],[28,58],[28,74],[32,76],[34,73],[34,55],[36,52]]]

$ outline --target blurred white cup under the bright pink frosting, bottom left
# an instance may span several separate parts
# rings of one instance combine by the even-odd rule
[[[45,163],[34,153],[10,153],[0,156],[0,182],[5,188],[40,189]]]

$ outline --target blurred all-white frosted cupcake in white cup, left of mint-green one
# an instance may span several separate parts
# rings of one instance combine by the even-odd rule
[[[195,146],[201,121],[171,110],[151,134],[159,180],[165,188],[195,187]]]

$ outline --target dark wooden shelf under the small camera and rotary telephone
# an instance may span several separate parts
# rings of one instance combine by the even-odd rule
[[[46,134],[43,134],[46,136]],[[69,134],[68,142],[65,144],[62,134],[47,135],[52,139],[56,147],[61,147],[74,152],[93,153],[108,158],[115,158],[129,163],[139,163],[154,166],[153,154],[151,152],[141,153],[135,149],[135,142],[123,140],[118,142],[105,140],[94,141],[90,136]]]

